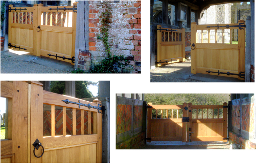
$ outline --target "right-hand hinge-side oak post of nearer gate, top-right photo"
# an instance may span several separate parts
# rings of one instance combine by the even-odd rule
[[[245,24],[244,20],[239,20],[238,23]],[[245,72],[245,30],[238,29],[238,73]],[[238,77],[238,79],[243,80],[243,78]]]

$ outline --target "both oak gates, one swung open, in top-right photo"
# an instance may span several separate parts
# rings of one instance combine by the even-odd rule
[[[233,30],[238,30],[238,43],[232,41]],[[185,61],[185,29],[162,28],[158,25],[156,66],[181,61]],[[204,25],[192,22],[191,73],[238,77],[244,80],[245,21]]]

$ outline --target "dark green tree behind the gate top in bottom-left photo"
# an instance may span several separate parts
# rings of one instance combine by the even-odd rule
[[[87,81],[76,81],[76,98],[93,97],[92,92],[87,89]],[[51,92],[65,95],[65,81],[51,81]]]

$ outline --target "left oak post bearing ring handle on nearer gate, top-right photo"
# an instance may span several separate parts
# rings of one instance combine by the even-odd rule
[[[196,44],[196,22],[191,23],[191,45]],[[196,49],[191,50],[191,73],[196,74]]]

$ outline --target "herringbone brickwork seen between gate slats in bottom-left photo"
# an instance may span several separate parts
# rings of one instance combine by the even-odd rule
[[[51,136],[51,111],[44,111],[43,120],[43,135]],[[72,109],[66,110],[66,132],[67,135],[73,135],[73,121],[72,121]],[[93,114],[91,118],[92,131],[93,134]],[[63,116],[62,110],[55,111],[55,135],[63,135]],[[84,134],[88,134],[88,111],[84,111]],[[76,135],[81,135],[81,111],[76,110]]]

